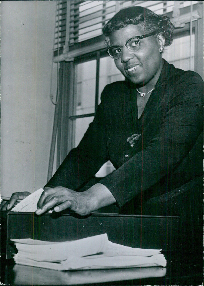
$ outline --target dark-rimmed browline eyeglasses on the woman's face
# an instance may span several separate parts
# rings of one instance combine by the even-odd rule
[[[130,51],[135,52],[140,48],[140,39],[150,37],[155,34],[156,32],[152,32],[142,36],[134,36],[130,38],[124,46],[109,47],[107,52],[109,53],[109,56],[112,57],[112,59],[119,59],[122,56],[123,47],[126,46]]]

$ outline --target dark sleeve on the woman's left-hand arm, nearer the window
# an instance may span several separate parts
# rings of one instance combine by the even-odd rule
[[[72,190],[81,188],[107,162],[106,142],[107,128],[101,103],[81,142],[69,152],[45,187],[64,186]]]

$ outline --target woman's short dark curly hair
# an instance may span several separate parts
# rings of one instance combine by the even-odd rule
[[[157,15],[144,7],[132,6],[120,10],[103,27],[103,34],[106,37],[106,44],[110,46],[109,37],[113,31],[124,28],[130,24],[139,24],[148,33],[161,33],[165,39],[165,46],[171,45],[173,41],[172,33],[174,31],[174,25],[169,20],[169,17]]]

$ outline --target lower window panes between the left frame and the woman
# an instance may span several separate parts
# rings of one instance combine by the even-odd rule
[[[75,146],[77,146],[87,130],[89,123],[93,121],[93,115],[95,113],[96,76],[99,82],[98,104],[101,102],[100,95],[103,88],[107,84],[117,80],[125,80],[125,77],[119,72],[114,61],[109,56],[99,59],[99,74],[97,75],[96,59],[76,63],[75,73],[77,79],[75,85],[76,114],[72,116],[72,119],[76,120]]]

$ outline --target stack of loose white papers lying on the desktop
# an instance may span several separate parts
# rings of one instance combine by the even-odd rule
[[[110,269],[166,266],[160,250],[119,245],[108,240],[107,234],[76,241],[46,242],[33,239],[11,239],[18,253],[16,264],[54,270]]]

